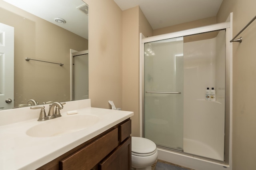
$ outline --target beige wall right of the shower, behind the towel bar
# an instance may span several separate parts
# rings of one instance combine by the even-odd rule
[[[233,12],[233,36],[255,16],[255,0],[223,0],[217,22],[224,22]],[[255,169],[256,108],[256,21],[233,42],[233,170]],[[240,37],[238,36],[238,38]]]

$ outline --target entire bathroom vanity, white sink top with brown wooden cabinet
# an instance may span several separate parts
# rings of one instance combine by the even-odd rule
[[[37,121],[39,112],[0,111],[0,169],[131,169],[133,112],[93,108],[90,99],[67,102],[56,119]]]

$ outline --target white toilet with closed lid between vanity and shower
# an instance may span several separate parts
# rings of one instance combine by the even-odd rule
[[[157,156],[154,142],[146,138],[132,136],[132,170],[151,170]]]

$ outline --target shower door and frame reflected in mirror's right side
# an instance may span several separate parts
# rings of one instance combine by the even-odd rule
[[[88,50],[72,53],[72,100],[88,99]]]

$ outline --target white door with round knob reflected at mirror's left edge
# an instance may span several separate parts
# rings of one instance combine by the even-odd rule
[[[14,100],[14,28],[0,23],[0,110]]]

